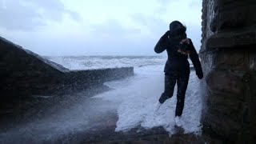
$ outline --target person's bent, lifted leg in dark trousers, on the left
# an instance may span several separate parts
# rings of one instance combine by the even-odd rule
[[[171,98],[174,94],[174,86],[176,84],[176,75],[175,74],[166,74],[165,75],[165,91],[162,93],[159,98],[159,102],[163,103],[166,99]]]

